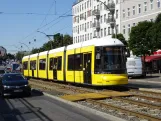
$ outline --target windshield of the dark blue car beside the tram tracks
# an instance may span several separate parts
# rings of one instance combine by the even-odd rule
[[[20,74],[4,75],[3,80],[5,80],[5,81],[20,81],[20,80],[24,80],[24,77]]]

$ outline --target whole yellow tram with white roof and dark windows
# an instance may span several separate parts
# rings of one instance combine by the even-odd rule
[[[110,37],[25,56],[22,63],[25,77],[93,86],[128,83],[124,45]]]

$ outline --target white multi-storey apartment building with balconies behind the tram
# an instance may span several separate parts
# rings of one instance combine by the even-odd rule
[[[92,38],[100,38],[112,34],[110,23],[107,22],[111,17],[112,0],[78,0],[73,5],[73,43],[91,40]],[[120,32],[120,5],[118,0],[114,1],[116,29]],[[105,6],[105,5],[106,6]]]

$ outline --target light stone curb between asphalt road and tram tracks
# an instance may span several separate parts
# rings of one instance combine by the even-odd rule
[[[36,89],[34,89],[36,90]],[[37,90],[39,91],[39,90]],[[41,91],[42,92],[42,91]],[[124,119],[121,119],[121,118],[118,118],[118,117],[115,117],[115,116],[112,116],[110,114],[107,114],[107,113],[104,113],[104,112],[101,112],[101,111],[97,111],[95,109],[92,109],[92,108],[89,108],[89,107],[86,107],[86,106],[83,106],[83,105],[80,105],[80,104],[77,104],[77,103],[74,103],[74,102],[70,102],[70,101],[67,101],[67,100],[64,100],[64,99],[61,99],[59,97],[56,97],[56,96],[53,96],[51,94],[48,94],[46,92],[42,92],[45,96],[47,97],[50,97],[52,99],[55,99],[57,101],[60,101],[60,102],[63,102],[63,103],[66,103],[68,105],[71,105],[73,107],[76,107],[76,108],[79,108],[79,109],[82,109],[82,110],[85,110],[87,112],[90,112],[94,115],[97,115],[97,116],[101,116],[103,117],[104,119],[107,119],[107,120],[110,120],[110,121],[126,121]]]

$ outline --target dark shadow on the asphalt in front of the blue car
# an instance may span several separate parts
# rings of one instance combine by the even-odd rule
[[[0,96],[0,121],[52,121],[40,107],[32,104],[32,100],[39,99],[38,96],[42,95],[42,92],[33,90],[32,96],[27,98],[23,95],[6,98]]]

